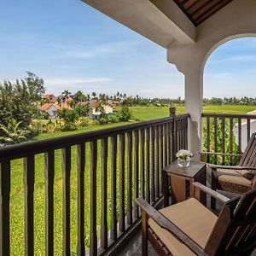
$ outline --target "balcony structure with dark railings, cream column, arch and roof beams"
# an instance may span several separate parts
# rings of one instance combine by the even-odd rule
[[[0,148],[0,255],[116,255],[140,228],[134,199],[161,206],[161,169],[178,149],[236,164],[251,134],[255,116],[203,113],[203,72],[218,45],[256,35],[255,1],[83,2],[166,49],[186,114]]]

